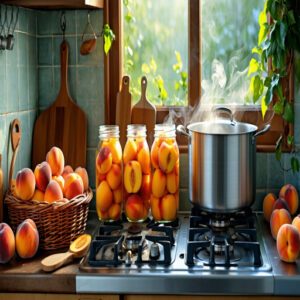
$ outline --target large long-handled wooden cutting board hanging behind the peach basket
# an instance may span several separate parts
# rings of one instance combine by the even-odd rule
[[[86,166],[87,119],[85,113],[72,100],[68,88],[69,46],[60,46],[61,86],[54,103],[43,111],[34,126],[32,167],[46,158],[53,146],[62,149],[65,164],[73,168]]]

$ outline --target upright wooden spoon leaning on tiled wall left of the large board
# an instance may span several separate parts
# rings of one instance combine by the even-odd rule
[[[8,177],[9,178],[8,186],[10,189],[12,189],[12,177],[13,177],[13,171],[15,169],[16,158],[20,146],[21,134],[22,133],[21,133],[20,121],[18,119],[14,119],[10,127],[10,141],[11,141],[11,147],[13,151],[13,156],[9,168],[9,177]]]

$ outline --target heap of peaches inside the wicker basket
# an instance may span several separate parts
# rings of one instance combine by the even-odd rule
[[[24,168],[17,173],[13,184],[13,194],[20,200],[36,200],[53,203],[69,201],[82,194],[89,187],[85,168],[78,167],[75,172],[65,166],[64,154],[58,147],[52,147],[46,161],[38,164],[34,172]]]

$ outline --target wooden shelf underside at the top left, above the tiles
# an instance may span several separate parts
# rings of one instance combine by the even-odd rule
[[[97,9],[104,7],[105,0],[7,0],[9,5],[36,9]]]

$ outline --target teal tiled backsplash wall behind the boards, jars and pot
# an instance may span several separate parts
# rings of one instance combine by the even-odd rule
[[[104,123],[104,68],[102,39],[97,40],[95,52],[88,56],[79,53],[87,11],[66,11],[66,35],[69,43],[69,87],[75,102],[88,118],[87,169],[91,186],[95,184],[95,151],[98,128]],[[47,108],[56,98],[60,83],[60,29],[61,11],[33,11],[20,9],[13,51],[0,51],[0,132],[8,145],[8,128],[12,119],[22,122],[23,137],[16,169],[30,166],[31,136],[36,114]],[[91,12],[91,22],[99,34],[103,24],[103,11]],[[299,61],[299,57],[297,59]],[[297,67],[300,69],[300,65]],[[4,71],[3,71],[4,70]],[[298,72],[300,73],[300,72]],[[295,140],[300,146],[300,81],[296,81]],[[2,140],[0,140],[1,150]],[[4,172],[7,174],[8,153],[4,154]],[[10,155],[9,155],[10,156]],[[283,155],[283,167],[289,167],[290,156]],[[189,209],[188,154],[180,155],[180,208]],[[284,183],[300,189],[300,175],[284,172],[273,153],[257,154],[256,208],[269,191],[278,192]]]

